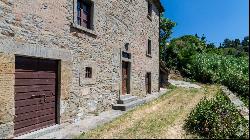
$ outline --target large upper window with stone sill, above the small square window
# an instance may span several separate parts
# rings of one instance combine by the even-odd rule
[[[86,0],[77,0],[77,24],[91,29],[92,3]]]

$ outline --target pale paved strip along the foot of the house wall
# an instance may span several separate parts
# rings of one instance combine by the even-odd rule
[[[161,95],[165,94],[168,91],[169,90],[167,89],[161,88],[160,92],[149,94],[144,97],[143,100],[145,100],[145,103],[150,102],[159,98]],[[14,139],[72,139],[76,136],[81,135],[83,132],[95,129],[100,125],[114,120],[127,111],[109,110],[100,113],[98,116],[88,116],[76,123],[55,125],[19,137],[15,137]]]

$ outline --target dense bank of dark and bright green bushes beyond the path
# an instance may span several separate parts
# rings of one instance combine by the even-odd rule
[[[209,47],[210,46],[210,47]],[[166,47],[167,67],[203,83],[219,83],[249,101],[249,57],[243,47],[214,48],[204,40],[185,35]]]

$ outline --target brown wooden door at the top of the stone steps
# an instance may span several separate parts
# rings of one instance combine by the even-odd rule
[[[122,95],[128,94],[129,86],[129,65],[128,62],[122,62]]]

